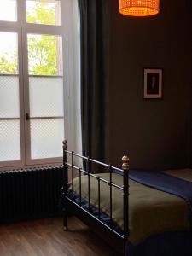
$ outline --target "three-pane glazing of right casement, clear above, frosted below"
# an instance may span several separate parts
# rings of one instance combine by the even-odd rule
[[[64,139],[62,37],[27,34],[27,60],[30,158],[61,157]]]

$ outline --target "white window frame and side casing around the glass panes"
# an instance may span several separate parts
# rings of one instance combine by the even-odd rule
[[[61,26],[40,25],[26,22],[26,0],[17,0],[17,21],[0,21],[1,32],[18,33],[18,62],[19,62],[19,86],[20,86],[20,154],[19,161],[0,162],[0,170],[13,169],[26,166],[46,166],[60,164],[62,157],[51,159],[32,160],[30,158],[30,131],[29,121],[26,121],[26,113],[29,113],[29,77],[27,61],[27,34],[47,34],[62,37],[62,59],[63,59],[63,86],[64,86],[64,127],[65,138],[70,142],[69,148],[77,146],[81,151],[81,128],[79,95],[79,24],[73,23],[71,12],[78,11],[78,0],[61,0]],[[73,31],[72,25],[75,32]],[[62,25],[63,24],[63,25]],[[78,25],[78,26],[77,26]],[[70,56],[70,57],[69,57]],[[78,89],[77,89],[78,88]],[[73,96],[77,99],[73,99]],[[25,99],[25,101],[24,101]],[[78,103],[75,103],[78,100]],[[25,102],[25,103],[24,103]],[[76,113],[76,114],[74,114]],[[78,135],[76,136],[76,134]],[[24,136],[25,134],[25,136]],[[74,136],[75,134],[75,136]],[[77,148],[77,147],[76,147]],[[78,151],[79,151],[78,150]]]

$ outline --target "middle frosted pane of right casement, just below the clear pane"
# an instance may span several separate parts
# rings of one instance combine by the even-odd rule
[[[30,77],[30,116],[63,116],[63,79]]]

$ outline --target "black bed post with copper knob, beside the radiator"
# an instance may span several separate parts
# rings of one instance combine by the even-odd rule
[[[67,201],[66,201],[66,195],[67,195],[67,183],[68,183],[68,170],[67,170],[67,140],[64,140],[62,142],[62,148],[63,148],[63,229],[67,231]]]

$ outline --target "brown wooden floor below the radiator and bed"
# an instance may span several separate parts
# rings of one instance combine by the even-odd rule
[[[0,256],[118,256],[77,218],[62,230],[61,218],[0,226]]]

